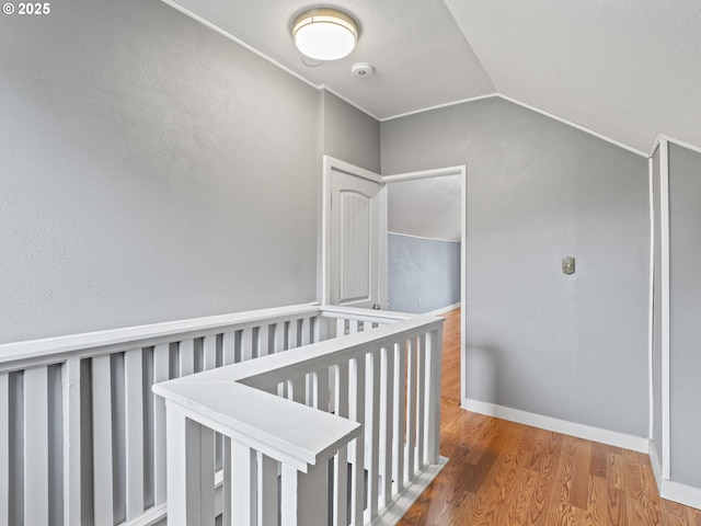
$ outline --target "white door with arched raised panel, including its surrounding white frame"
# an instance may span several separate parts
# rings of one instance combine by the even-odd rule
[[[387,307],[387,191],[382,178],[324,157],[324,300]]]

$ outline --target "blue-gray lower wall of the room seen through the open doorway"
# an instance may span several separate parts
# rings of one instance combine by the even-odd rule
[[[460,302],[460,243],[390,232],[389,309],[424,313]]]

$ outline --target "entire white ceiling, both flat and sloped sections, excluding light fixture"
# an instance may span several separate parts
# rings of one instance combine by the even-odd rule
[[[344,0],[358,45],[315,67],[289,30],[317,3],[165,1],[378,119],[498,93],[643,152],[658,134],[701,145],[697,0]]]

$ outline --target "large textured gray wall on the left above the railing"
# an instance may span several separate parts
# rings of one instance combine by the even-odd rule
[[[318,93],[156,0],[0,18],[0,342],[315,299]]]

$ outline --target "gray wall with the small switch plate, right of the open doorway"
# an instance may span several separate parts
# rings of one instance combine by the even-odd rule
[[[382,173],[468,165],[467,397],[647,436],[646,160],[498,99],[381,144]]]

